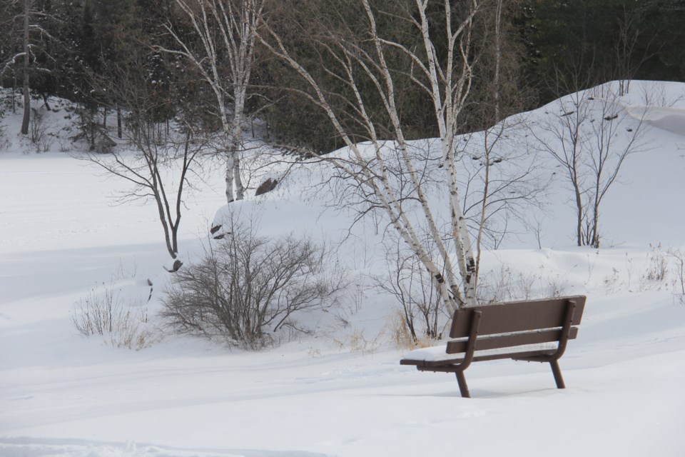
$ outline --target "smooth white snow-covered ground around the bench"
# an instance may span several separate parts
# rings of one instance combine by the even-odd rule
[[[484,253],[485,273],[506,266],[587,294],[560,361],[567,388],[547,365],[483,362],[466,372],[470,399],[453,375],[399,365],[407,349],[382,333],[395,305],[372,290],[337,311],[349,326],[322,320],[315,336],[268,351],[172,335],[131,351],[78,335],[75,306],[103,283],[147,298],[151,281],[154,316],[171,263],[155,209],[113,205],[120,181],[60,152],[60,139],[25,154],[16,119],[1,120],[0,457],[685,455],[685,303],[667,253],[685,252],[685,84],[657,86],[649,149],[626,161],[604,203],[611,242],[574,247],[559,182],[542,249],[521,238]],[[623,100],[631,116],[644,112],[641,87]],[[212,176],[186,199],[184,259],[223,204],[220,168]],[[262,198],[271,231],[350,224],[277,196]],[[350,268],[373,265],[362,258],[377,238],[352,239]],[[655,256],[668,264],[661,280],[647,277]]]

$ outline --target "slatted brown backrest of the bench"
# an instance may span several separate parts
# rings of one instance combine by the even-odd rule
[[[447,343],[447,353],[466,351],[476,311],[480,321],[475,350],[480,351],[559,341],[569,317],[569,338],[575,338],[584,308],[582,295],[462,308],[455,311],[450,330],[451,338],[460,339]]]

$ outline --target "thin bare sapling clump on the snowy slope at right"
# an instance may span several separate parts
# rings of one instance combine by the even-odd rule
[[[537,141],[534,147],[557,161],[572,188],[578,246],[599,248],[604,196],[626,159],[646,147],[642,120],[626,122],[615,86],[602,84],[562,97],[554,102],[557,112],[547,113],[529,130]]]

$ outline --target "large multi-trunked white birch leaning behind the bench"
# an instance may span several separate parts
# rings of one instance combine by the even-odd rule
[[[300,96],[310,97],[325,111],[349,150],[349,154],[322,159],[352,179],[357,189],[385,212],[390,225],[430,272],[448,310],[472,305],[476,303],[476,261],[457,183],[459,151],[455,139],[471,87],[471,31],[478,1],[460,4],[460,11],[448,0],[392,1],[382,6],[362,0],[358,4],[358,15],[349,10],[340,14],[329,11],[333,21],[316,29],[316,36],[308,29],[311,24],[298,24],[288,18],[291,33],[312,37],[321,53],[333,57],[335,66],[325,68],[325,73],[340,82],[345,93],[330,93],[325,83],[298,59],[298,50],[289,49],[273,26],[265,26],[262,43],[308,83],[310,91]],[[288,4],[284,8],[293,10]],[[392,11],[388,11],[390,8]],[[333,6],[326,5],[326,9],[332,10]],[[360,20],[346,22],[354,17]],[[412,33],[404,39],[392,36],[392,30],[384,28],[388,17],[409,24]],[[336,26],[335,21],[342,26]],[[444,40],[440,46],[434,35]],[[444,52],[438,54],[438,48]],[[400,79],[420,87],[433,106],[438,133],[434,149],[442,172],[440,185],[447,195],[446,201],[437,202],[437,206],[426,194],[422,169],[426,162],[416,160],[416,149],[405,136],[398,109],[401,94],[396,90]],[[380,100],[382,113],[371,110],[371,99]],[[340,111],[338,106],[347,110]],[[348,127],[352,124],[364,132],[369,147],[355,141]],[[443,203],[445,206],[440,208]],[[440,224],[438,214],[447,214],[446,224]],[[427,238],[422,236],[422,228]],[[429,245],[435,246],[435,255],[430,254]]]

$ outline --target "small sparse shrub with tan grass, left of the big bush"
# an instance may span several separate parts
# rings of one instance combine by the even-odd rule
[[[101,291],[91,288],[73,309],[71,321],[81,335],[103,336],[106,343],[118,348],[138,351],[161,339],[151,328],[148,309],[124,303],[113,282],[103,283]]]

